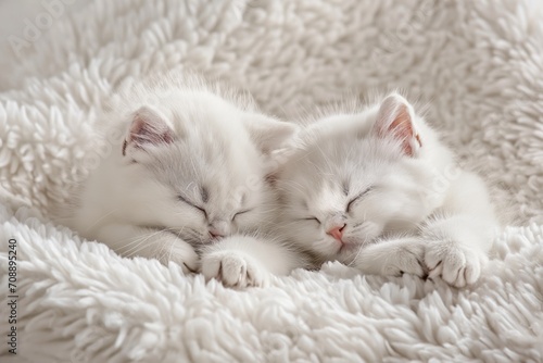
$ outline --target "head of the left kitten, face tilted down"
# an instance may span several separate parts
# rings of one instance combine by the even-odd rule
[[[131,223],[200,245],[268,221],[265,177],[298,127],[202,89],[155,98],[129,117],[118,152]]]

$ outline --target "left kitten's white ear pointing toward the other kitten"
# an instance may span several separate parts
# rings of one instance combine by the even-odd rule
[[[280,163],[295,146],[299,126],[260,114],[248,114],[243,123],[261,152],[274,163]]]

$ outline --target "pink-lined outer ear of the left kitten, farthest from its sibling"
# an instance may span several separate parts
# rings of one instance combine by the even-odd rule
[[[146,149],[151,145],[169,143],[174,133],[165,118],[149,107],[141,107],[132,114],[132,123],[123,145],[123,155],[128,147]]]

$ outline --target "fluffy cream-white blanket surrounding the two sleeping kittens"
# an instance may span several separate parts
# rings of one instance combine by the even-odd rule
[[[28,2],[29,3],[29,2]],[[20,2],[21,5],[26,2]],[[0,2],[0,360],[543,361],[543,8],[530,0]],[[11,18],[10,18],[11,17]],[[401,88],[509,205],[480,281],[330,263],[236,291],[122,259],[48,215],[99,155],[96,115],[175,67],[290,118]],[[356,95],[358,95],[356,93]],[[98,155],[98,157],[97,157]],[[16,243],[9,243],[10,239]],[[15,246],[16,323],[8,289]],[[17,355],[8,333],[16,326]]]

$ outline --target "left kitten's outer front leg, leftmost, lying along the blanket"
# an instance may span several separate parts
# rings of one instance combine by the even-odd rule
[[[173,261],[185,273],[199,267],[199,258],[192,246],[169,231],[129,224],[109,224],[101,227],[97,235],[99,242],[108,245],[123,256],[156,259],[164,265]]]

